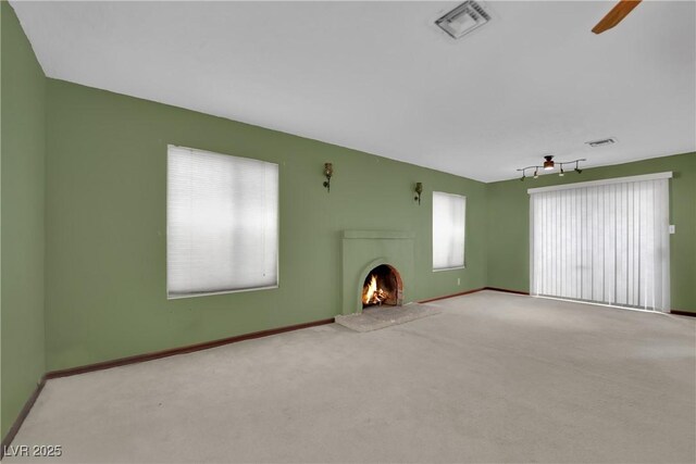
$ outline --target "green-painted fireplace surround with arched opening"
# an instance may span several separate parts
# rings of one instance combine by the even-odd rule
[[[344,230],[343,314],[362,312],[368,273],[381,264],[395,267],[403,281],[403,302],[413,294],[413,241],[409,230]]]

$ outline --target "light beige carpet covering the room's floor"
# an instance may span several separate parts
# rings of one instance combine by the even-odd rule
[[[430,304],[49,380],[13,444],[82,463],[694,462],[696,319],[494,291]]]

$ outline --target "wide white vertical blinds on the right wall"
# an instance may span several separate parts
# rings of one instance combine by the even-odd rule
[[[669,311],[667,174],[532,189],[532,293]]]

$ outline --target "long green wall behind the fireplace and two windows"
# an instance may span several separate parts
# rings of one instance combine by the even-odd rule
[[[486,284],[485,184],[53,79],[47,122],[49,369],[333,317],[345,229],[415,234],[414,300]],[[166,300],[167,143],[279,164],[278,289]],[[431,271],[433,189],[468,197],[465,269]]]

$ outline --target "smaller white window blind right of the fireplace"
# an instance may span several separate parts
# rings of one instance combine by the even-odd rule
[[[433,192],[433,269],[464,265],[467,198]]]

